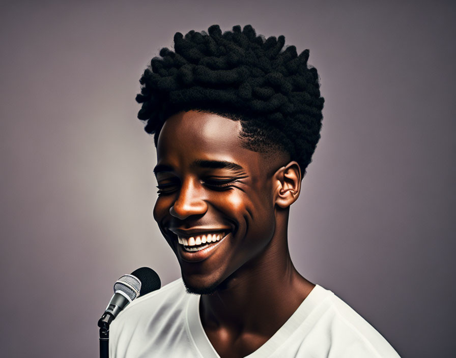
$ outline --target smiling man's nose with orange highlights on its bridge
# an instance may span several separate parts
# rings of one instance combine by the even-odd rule
[[[196,183],[192,180],[185,181],[182,183],[178,198],[169,208],[169,214],[181,220],[192,215],[205,214],[208,206],[201,194]]]

